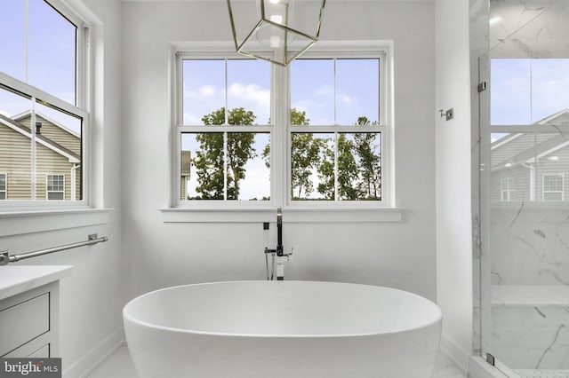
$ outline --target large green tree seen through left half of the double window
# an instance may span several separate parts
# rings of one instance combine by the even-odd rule
[[[228,111],[228,124],[251,125],[256,116],[237,107]],[[202,117],[204,125],[225,124],[225,107],[206,114]],[[196,167],[198,186],[196,192],[204,200],[223,199],[224,192],[224,159],[227,162],[227,195],[228,200],[239,199],[239,183],[245,177],[244,165],[257,156],[253,143],[255,134],[252,132],[227,132],[227,155],[224,156],[223,132],[204,132],[196,135],[200,150],[192,160]]]

